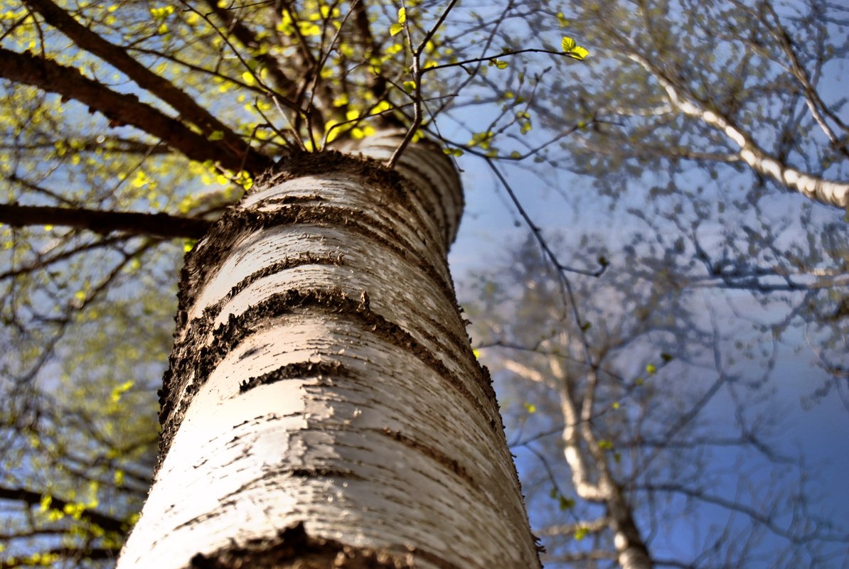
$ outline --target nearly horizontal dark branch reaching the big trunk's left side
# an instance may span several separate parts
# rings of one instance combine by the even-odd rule
[[[96,233],[125,232],[155,237],[203,237],[211,221],[167,214],[0,204],[0,223],[9,226],[68,226]]]

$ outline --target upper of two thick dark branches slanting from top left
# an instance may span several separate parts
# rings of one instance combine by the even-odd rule
[[[222,142],[230,148],[233,153],[244,156],[251,152],[250,146],[233,132],[212,116],[206,109],[200,107],[193,98],[174,86],[171,81],[146,68],[143,64],[132,59],[127,52],[114,43],[107,42],[103,37],[89,30],[86,26],[77,22],[64,9],[59,8],[51,0],[25,0],[31,8],[42,14],[44,20],[56,29],[68,36],[77,46],[82,47],[89,53],[97,55],[100,59],[108,62],[117,70],[123,71],[127,77],[136,84],[156,97],[170,104],[183,119],[188,120],[194,126],[200,128],[205,135],[209,136],[215,131],[222,133]]]

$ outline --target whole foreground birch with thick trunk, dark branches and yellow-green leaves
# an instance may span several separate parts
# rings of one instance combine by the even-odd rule
[[[9,276],[48,269],[9,289],[9,343],[42,341],[14,384],[146,250],[200,237],[121,566],[539,566],[447,270],[463,194],[421,131],[453,84],[425,70],[502,65],[447,47],[455,4],[7,4]],[[49,271],[93,251],[98,280]],[[135,522],[37,494],[3,492],[30,527],[8,539],[67,535],[8,566],[108,557]]]

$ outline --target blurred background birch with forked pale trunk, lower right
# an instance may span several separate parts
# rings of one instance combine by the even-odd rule
[[[846,527],[813,490],[805,451],[780,443],[774,339],[746,354],[722,297],[673,286],[669,259],[616,254],[615,274],[576,278],[583,326],[536,242],[505,260],[467,306],[499,371],[546,566],[841,566]]]

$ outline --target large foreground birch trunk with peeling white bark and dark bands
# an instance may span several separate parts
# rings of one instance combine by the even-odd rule
[[[447,268],[453,164],[305,154],[257,187],[188,255],[118,566],[539,567]]]

